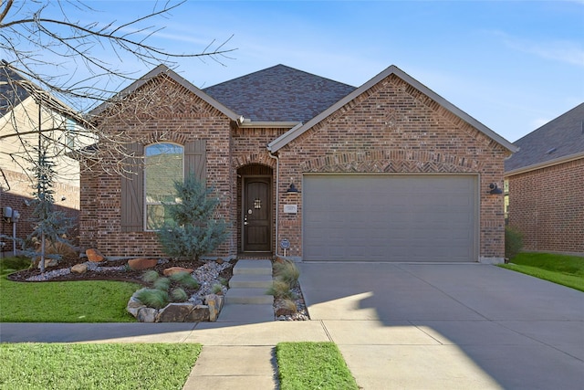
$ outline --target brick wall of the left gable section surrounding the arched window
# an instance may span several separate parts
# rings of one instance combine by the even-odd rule
[[[141,87],[124,102],[124,109],[104,113],[100,127],[120,134],[122,142],[206,140],[207,184],[221,199],[217,214],[232,237],[212,256],[235,255],[235,175],[231,169],[230,121],[220,111],[172,79],[162,77]],[[114,166],[104,153],[101,166]],[[120,174],[106,174],[99,166],[81,178],[80,229],[82,248],[98,248],[107,257],[163,256],[153,232],[120,233]]]

